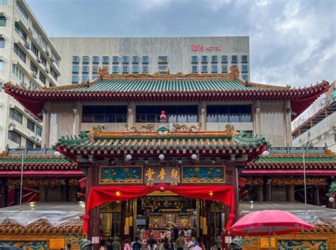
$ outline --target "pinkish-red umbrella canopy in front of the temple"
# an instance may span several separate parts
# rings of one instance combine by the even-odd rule
[[[309,225],[292,213],[281,210],[262,210],[245,215],[231,227],[230,234],[262,236],[287,234],[312,230]]]

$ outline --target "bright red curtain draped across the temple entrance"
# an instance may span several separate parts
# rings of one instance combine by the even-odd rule
[[[172,191],[186,198],[206,199],[225,203],[231,208],[226,229],[233,224],[233,219],[235,218],[233,186],[167,186],[165,184],[159,184],[157,186],[92,186],[86,202],[86,215],[83,216],[84,233],[87,234],[90,220],[89,211],[92,208],[103,203],[140,198],[154,191]]]

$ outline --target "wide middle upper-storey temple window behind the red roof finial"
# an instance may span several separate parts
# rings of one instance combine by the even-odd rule
[[[166,112],[169,122],[197,122],[197,105],[190,106],[137,106],[136,122],[159,122],[161,112]]]

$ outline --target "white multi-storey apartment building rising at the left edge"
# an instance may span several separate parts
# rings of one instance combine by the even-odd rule
[[[24,0],[0,0],[0,87],[26,89],[57,85],[60,53]],[[40,148],[42,124],[0,88],[0,152]]]

